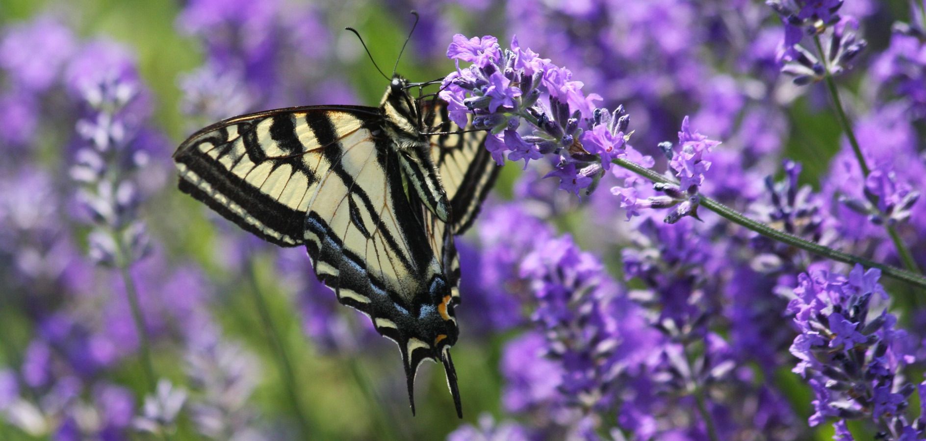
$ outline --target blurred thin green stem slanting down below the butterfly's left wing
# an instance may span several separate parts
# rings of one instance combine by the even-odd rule
[[[309,430],[310,424],[308,423],[306,411],[303,410],[302,401],[299,400],[299,389],[296,387],[293,365],[290,361],[289,354],[286,352],[286,347],[283,344],[282,337],[280,337],[280,333],[277,330],[276,325],[273,324],[273,320],[270,317],[270,310],[267,305],[267,301],[264,299],[263,292],[257,283],[257,271],[255,270],[254,260],[248,259],[247,266],[247,278],[251,283],[251,289],[249,290],[254,295],[254,302],[257,305],[257,313],[260,315],[261,325],[264,326],[264,332],[267,333],[267,337],[270,340],[270,347],[272,348],[273,355],[276,358],[277,368],[280,369],[280,376],[282,376],[283,383],[285,384],[286,394],[290,398],[296,419],[299,422],[299,428],[302,432],[300,438],[308,439],[309,434],[311,434],[311,430]]]

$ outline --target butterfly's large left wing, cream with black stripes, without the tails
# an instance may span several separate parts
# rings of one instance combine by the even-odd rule
[[[383,333],[395,320],[381,310],[411,312],[446,281],[381,119],[358,106],[238,116],[194,134],[174,160],[184,192],[273,243],[306,245],[319,279]]]

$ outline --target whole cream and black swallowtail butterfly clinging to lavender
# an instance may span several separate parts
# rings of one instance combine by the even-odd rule
[[[423,83],[421,83],[423,84]],[[454,236],[499,167],[485,131],[393,75],[379,107],[314,105],[235,116],[173,159],[180,190],[262,239],[305,246],[319,280],[368,315],[402,355],[408,399],[422,361],[441,361],[462,418],[450,348],[460,277]]]

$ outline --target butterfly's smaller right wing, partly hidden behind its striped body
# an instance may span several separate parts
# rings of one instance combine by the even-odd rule
[[[461,128],[450,120],[443,100],[425,102],[424,115],[429,132],[445,133],[432,136],[432,160],[450,201],[453,234],[460,235],[472,226],[500,168],[485,149],[488,132],[460,132]],[[472,129],[472,125],[463,129]]]

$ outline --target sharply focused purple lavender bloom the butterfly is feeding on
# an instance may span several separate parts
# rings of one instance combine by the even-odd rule
[[[580,127],[583,117],[593,116],[592,102],[600,97],[584,95],[582,82],[571,80],[568,69],[522,49],[517,39],[503,52],[494,37],[467,39],[457,35],[447,55],[457,61],[457,71],[444,78],[440,96],[457,124],[465,125],[467,113],[471,113],[474,127],[492,130],[486,148],[496,162],[501,164],[507,152],[509,160],[524,159],[526,168],[532,159],[558,154],[560,163],[547,176],[560,178],[561,188],[574,192],[588,187],[593,175],[600,175],[601,168],[587,167],[591,155],[582,148]],[[460,61],[473,64],[462,68]],[[542,95],[549,98],[549,112],[538,102]],[[530,122],[531,135],[521,136],[516,131],[520,119]],[[626,130],[626,118],[619,128]],[[612,142],[602,149],[609,160],[622,153],[621,147]]]

